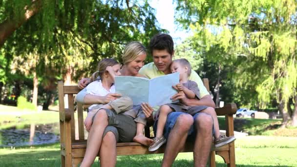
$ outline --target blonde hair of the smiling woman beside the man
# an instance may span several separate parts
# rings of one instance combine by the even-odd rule
[[[122,60],[124,64],[132,62],[137,58],[137,56],[146,54],[146,48],[140,42],[129,42],[122,55]]]

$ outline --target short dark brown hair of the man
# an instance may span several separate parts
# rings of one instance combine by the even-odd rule
[[[166,49],[170,55],[173,54],[173,40],[168,34],[156,34],[150,39],[149,51]]]

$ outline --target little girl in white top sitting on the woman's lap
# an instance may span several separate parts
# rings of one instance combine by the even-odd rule
[[[114,77],[121,75],[119,70],[120,65],[116,61],[112,59],[102,60],[98,64],[98,71],[95,72],[91,77],[91,83],[86,86],[87,93],[97,96],[106,96],[108,93],[115,93],[115,87],[113,85]],[[98,73],[101,80],[94,81],[97,78]],[[133,138],[133,141],[143,145],[151,144],[152,140],[145,137],[142,133],[147,121],[141,106],[133,106],[132,99],[127,96],[122,97],[120,94],[116,95],[119,97],[118,99],[110,99],[110,102],[107,104],[93,104],[88,108],[89,112],[85,118],[86,130],[89,131],[91,129],[93,117],[100,109],[109,109],[112,110],[112,112],[107,111],[110,114],[108,115],[110,116],[108,120],[109,125],[114,125],[115,127],[121,128],[121,125],[115,125],[120,121],[117,120],[114,114],[123,113],[123,115],[133,118],[134,122],[136,123],[137,134]]]

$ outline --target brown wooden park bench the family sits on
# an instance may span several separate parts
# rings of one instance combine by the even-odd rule
[[[203,79],[203,83],[209,90],[208,79]],[[77,104],[77,122],[74,120],[74,95],[80,89],[77,85],[64,86],[63,82],[59,82],[59,112],[60,112],[60,141],[61,141],[61,164],[62,167],[77,167],[84,158],[86,149],[83,105]],[[68,100],[64,101],[64,99]],[[67,104],[65,104],[67,102]],[[65,106],[68,106],[65,108]],[[225,115],[226,136],[233,136],[233,114],[236,113],[236,104],[226,104],[222,108],[215,108],[216,114]],[[76,128],[75,128],[76,127]],[[76,130],[78,129],[78,130]],[[149,127],[145,129],[145,135],[150,136]],[[159,154],[164,153],[165,146],[154,152],[149,152],[147,146],[139,143],[118,143],[117,155],[137,155],[137,154]],[[193,144],[186,143],[181,152],[192,152]],[[229,145],[215,148],[212,145],[209,164],[215,167],[215,155],[221,156],[228,167],[235,167],[234,142]],[[99,154],[98,154],[99,156]]]

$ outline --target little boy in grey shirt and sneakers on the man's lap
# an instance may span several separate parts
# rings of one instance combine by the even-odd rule
[[[188,80],[191,74],[191,64],[186,59],[174,60],[170,66],[171,72],[179,72],[179,83],[176,85],[178,91],[183,91],[189,99],[194,99],[199,97],[199,89],[195,82]],[[199,99],[199,98],[198,98]],[[187,106],[181,103],[165,104],[159,109],[159,120],[157,125],[156,137],[153,139],[154,143],[148,147],[149,151],[155,151],[164,143],[166,139],[163,136],[164,126],[167,120],[167,116],[172,111],[183,111],[191,115],[195,115],[198,112],[205,112],[207,106]],[[231,143],[235,140],[234,136],[226,137],[220,135],[219,124],[215,112],[205,112],[212,116],[213,127],[214,127],[214,146],[223,146]]]

